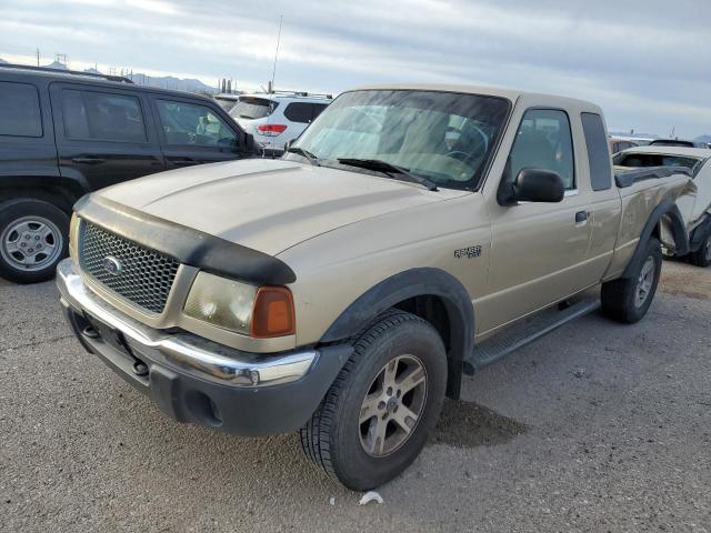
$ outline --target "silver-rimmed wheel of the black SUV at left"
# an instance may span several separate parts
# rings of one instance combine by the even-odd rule
[[[36,283],[54,276],[67,257],[69,217],[51,203],[17,199],[0,203],[0,276]]]

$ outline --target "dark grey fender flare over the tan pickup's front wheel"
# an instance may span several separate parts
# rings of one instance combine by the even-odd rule
[[[437,296],[444,304],[450,325],[448,359],[461,362],[474,344],[474,308],[464,285],[441,269],[411,269],[381,281],[360,295],[329,326],[321,342],[357,335],[377,316],[414,296]]]

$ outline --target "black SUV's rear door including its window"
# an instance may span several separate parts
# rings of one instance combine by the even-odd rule
[[[80,83],[50,87],[61,175],[94,191],[163,170],[140,91]]]

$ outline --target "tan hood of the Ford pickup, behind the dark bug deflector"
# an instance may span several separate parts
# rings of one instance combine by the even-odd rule
[[[337,228],[467,193],[432,192],[384,177],[250,159],[161,172],[99,194],[277,255]]]

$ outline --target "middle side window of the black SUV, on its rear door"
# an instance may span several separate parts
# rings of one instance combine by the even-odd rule
[[[64,89],[64,134],[72,140],[146,142],[146,124],[136,97]]]

